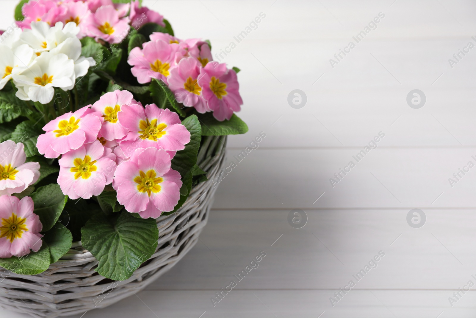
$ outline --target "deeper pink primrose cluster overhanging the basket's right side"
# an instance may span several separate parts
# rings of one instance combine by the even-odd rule
[[[153,32],[143,48],[130,51],[131,72],[141,84],[155,78],[169,85],[178,103],[198,113],[213,112],[219,121],[239,112],[243,101],[234,70],[212,61],[205,41],[182,41],[170,34]]]

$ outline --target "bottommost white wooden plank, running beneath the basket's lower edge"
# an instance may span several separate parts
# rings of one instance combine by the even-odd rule
[[[88,311],[84,318],[160,317],[160,318],[470,318],[476,309],[476,293],[467,293],[453,308],[448,291],[352,290],[335,307],[330,306],[330,291],[232,291],[216,307],[211,290],[146,291],[124,299],[107,309]],[[202,315],[202,316],[200,316]],[[321,315],[321,316],[319,316]],[[10,311],[1,318],[27,318]],[[73,316],[80,318],[81,315]]]

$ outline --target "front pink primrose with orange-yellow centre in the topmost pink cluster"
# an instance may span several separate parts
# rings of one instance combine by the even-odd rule
[[[109,43],[120,43],[130,29],[129,18],[119,19],[119,13],[112,5],[99,7],[84,23],[87,35]]]

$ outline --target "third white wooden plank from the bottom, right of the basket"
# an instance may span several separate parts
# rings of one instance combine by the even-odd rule
[[[231,149],[226,165],[233,161],[237,166],[229,168],[228,175],[222,174],[215,208],[476,206],[476,174],[471,169],[465,175],[458,170],[469,161],[476,163],[473,148],[377,148],[357,162],[354,156],[362,149],[258,148],[241,162],[236,159],[240,150]],[[341,173],[333,187],[329,179],[338,181],[334,174],[349,170],[350,161],[355,167],[347,175]],[[459,173],[459,181],[455,173]],[[449,178],[457,181],[453,187]],[[218,182],[218,176],[214,180]]]

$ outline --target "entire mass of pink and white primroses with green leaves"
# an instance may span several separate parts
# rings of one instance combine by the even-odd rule
[[[38,275],[76,244],[126,280],[158,248],[156,219],[207,182],[202,136],[247,132],[239,69],[138,0],[22,0],[15,18],[0,38],[0,267]]]

